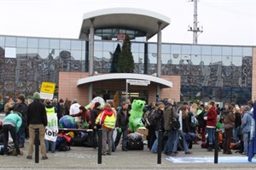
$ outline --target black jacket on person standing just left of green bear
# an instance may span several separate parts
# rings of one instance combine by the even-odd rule
[[[127,129],[128,124],[129,124],[129,110],[126,110],[126,116],[125,116],[125,111],[123,108],[119,109],[116,117],[116,123],[115,127],[121,127],[122,129]]]

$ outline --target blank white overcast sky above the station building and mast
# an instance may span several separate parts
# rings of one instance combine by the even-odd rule
[[[0,35],[79,38],[83,14],[102,8],[143,8],[166,15],[162,42],[192,43],[189,0],[0,0]],[[199,0],[200,44],[256,45],[256,0]],[[153,37],[149,42],[156,42]]]

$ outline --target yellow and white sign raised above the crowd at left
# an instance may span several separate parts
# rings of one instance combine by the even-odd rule
[[[42,82],[40,89],[41,99],[53,99],[55,93],[55,83],[54,82]]]

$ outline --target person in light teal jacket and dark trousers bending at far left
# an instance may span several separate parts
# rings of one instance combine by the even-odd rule
[[[6,108],[9,109],[12,105],[6,105]],[[17,140],[17,133],[20,129],[22,120],[19,114],[16,114],[13,111],[10,111],[8,116],[5,116],[3,119],[3,152],[5,156],[8,156],[8,141],[9,141],[9,133],[11,134],[14,144],[16,155],[20,155],[19,143]]]

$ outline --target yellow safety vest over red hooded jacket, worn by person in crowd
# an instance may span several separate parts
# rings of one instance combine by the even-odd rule
[[[115,127],[116,116],[111,107],[105,107],[96,118],[96,124],[102,127],[113,129]]]

